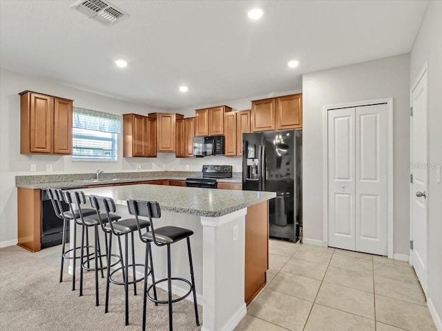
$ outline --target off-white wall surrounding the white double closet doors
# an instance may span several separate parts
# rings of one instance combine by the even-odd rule
[[[394,98],[394,252],[408,254],[409,54],[302,76],[304,237],[323,241],[323,106]]]

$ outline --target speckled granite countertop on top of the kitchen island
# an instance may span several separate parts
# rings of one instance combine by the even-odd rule
[[[126,205],[128,199],[157,201],[168,212],[204,217],[221,217],[249,205],[276,197],[275,192],[217,190],[162,185],[124,185],[87,188],[84,194],[112,197],[115,203]],[[171,199],[173,197],[173,199]]]

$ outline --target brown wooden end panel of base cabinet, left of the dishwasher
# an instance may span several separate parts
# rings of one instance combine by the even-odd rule
[[[40,190],[17,188],[18,245],[38,252],[41,249]]]

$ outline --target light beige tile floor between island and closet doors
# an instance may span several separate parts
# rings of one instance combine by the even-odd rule
[[[271,240],[269,263],[236,331],[436,330],[407,262]]]

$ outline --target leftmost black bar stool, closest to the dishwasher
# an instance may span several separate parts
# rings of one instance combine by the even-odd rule
[[[74,222],[74,242],[73,247],[70,250],[66,251],[66,236],[68,232],[68,224],[70,220],[77,219],[79,217],[78,211],[64,211],[63,206],[61,205],[64,202],[63,190],[59,188],[48,188],[46,190],[48,192],[48,197],[52,202],[52,207],[54,208],[55,215],[59,219],[63,220],[63,239],[61,241],[61,266],[60,266],[60,283],[63,281],[63,267],[64,267],[64,259],[73,259],[73,274],[72,274],[72,290],[75,290],[75,261],[80,257],[77,257],[77,250],[81,249],[81,246],[77,246],[77,222]],[[82,214],[84,217],[95,214],[95,210],[93,209],[84,209],[82,210]],[[87,232],[86,232],[87,236]],[[82,237],[84,238],[84,232],[82,232]],[[87,238],[87,237],[86,237]],[[89,246],[89,241],[86,239],[86,245]],[[72,257],[70,253],[72,252]],[[89,255],[89,254],[88,254]]]

